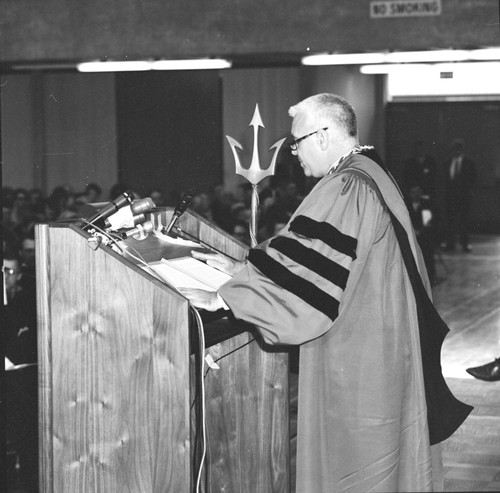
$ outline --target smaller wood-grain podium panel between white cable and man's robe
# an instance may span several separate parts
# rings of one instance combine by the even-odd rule
[[[213,491],[288,492],[288,359],[249,333],[208,352],[220,367],[205,378]]]

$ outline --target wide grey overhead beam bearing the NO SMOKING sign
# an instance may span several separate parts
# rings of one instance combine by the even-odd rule
[[[498,44],[497,0],[371,18],[352,0],[2,0],[4,61],[372,51]],[[279,60],[279,56],[277,57]]]

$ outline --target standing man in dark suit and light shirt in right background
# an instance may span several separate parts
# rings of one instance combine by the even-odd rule
[[[464,154],[463,141],[452,144],[451,158],[445,162],[444,196],[447,215],[447,235],[444,250],[454,250],[458,240],[464,252],[472,250],[469,244],[468,221],[472,188],[476,182],[476,165]]]

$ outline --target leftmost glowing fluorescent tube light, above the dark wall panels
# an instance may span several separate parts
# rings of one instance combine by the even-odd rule
[[[220,58],[192,60],[95,61],[79,63],[79,72],[137,72],[145,70],[207,70],[230,68],[231,62]]]

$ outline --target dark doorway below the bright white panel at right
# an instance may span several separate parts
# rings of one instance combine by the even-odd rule
[[[470,231],[500,234],[500,101],[393,102],[386,106],[386,161],[397,180],[421,140],[437,163],[436,208],[443,210],[443,163],[454,139],[476,163]],[[442,214],[439,214],[442,217]]]

